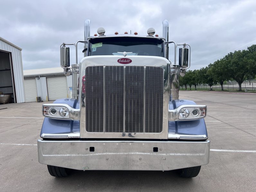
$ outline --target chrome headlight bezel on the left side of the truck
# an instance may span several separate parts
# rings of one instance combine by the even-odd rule
[[[56,110],[56,113],[53,114],[51,110]],[[61,109],[66,111],[66,115],[61,115]],[[62,119],[62,120],[79,120],[80,110],[75,109],[67,104],[43,104],[42,105],[42,114],[45,117],[51,119]]]

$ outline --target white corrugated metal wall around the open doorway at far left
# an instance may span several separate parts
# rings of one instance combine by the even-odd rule
[[[6,43],[2,38],[0,38],[0,50],[11,52],[16,103],[23,103],[25,102],[25,93],[21,50],[11,43]]]

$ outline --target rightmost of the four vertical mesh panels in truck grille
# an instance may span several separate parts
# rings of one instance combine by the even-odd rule
[[[145,132],[160,133],[163,128],[163,69],[146,67]]]

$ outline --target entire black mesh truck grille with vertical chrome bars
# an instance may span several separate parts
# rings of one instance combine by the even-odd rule
[[[163,68],[89,66],[85,78],[87,132],[162,132]]]

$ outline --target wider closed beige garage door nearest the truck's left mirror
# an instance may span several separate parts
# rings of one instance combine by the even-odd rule
[[[48,77],[46,81],[49,101],[68,97],[66,76]]]

